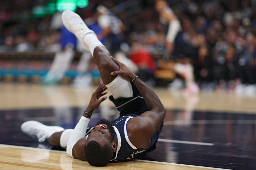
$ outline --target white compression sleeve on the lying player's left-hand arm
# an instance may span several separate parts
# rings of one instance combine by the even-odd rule
[[[67,154],[71,158],[74,158],[72,155],[72,149],[73,149],[74,145],[76,144],[76,142],[79,139],[81,139],[82,137],[85,137],[86,129],[87,129],[89,121],[90,121],[90,119],[82,116],[80,118],[79,122],[76,124],[76,127],[75,127],[73,133],[71,134],[71,136],[68,139]]]

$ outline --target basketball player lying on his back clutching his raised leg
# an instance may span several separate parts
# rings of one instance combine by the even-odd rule
[[[128,67],[109,55],[79,15],[66,10],[62,13],[62,20],[84,49],[92,53],[105,85],[102,83],[92,94],[75,129],[64,130],[58,126],[28,121],[21,125],[21,130],[37,136],[39,142],[47,138],[53,146],[67,147],[68,156],[88,161],[92,166],[133,159],[155,150],[165,117],[165,108],[156,93]],[[109,99],[120,111],[120,117],[112,122],[101,119],[94,127],[87,128],[93,110],[107,99],[106,96],[102,97],[107,88],[112,93]]]

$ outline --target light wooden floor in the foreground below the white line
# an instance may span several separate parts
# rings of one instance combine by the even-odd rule
[[[46,163],[47,162],[47,163]],[[66,152],[45,149],[15,147],[0,144],[1,170],[199,170],[217,169],[199,166],[171,165],[164,163],[129,161],[111,163],[105,167],[92,167],[87,162],[68,157]]]

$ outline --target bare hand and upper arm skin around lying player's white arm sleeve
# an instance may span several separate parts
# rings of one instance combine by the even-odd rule
[[[100,106],[100,103],[104,100],[107,99],[107,96],[104,96],[105,94],[107,94],[107,92],[105,92],[107,89],[107,87],[101,83],[100,86],[96,89],[96,91],[94,93],[92,93],[92,98],[89,102],[88,107],[86,108],[86,112],[88,113],[92,113],[96,108],[98,108]],[[104,97],[102,97],[104,96]],[[100,99],[100,97],[102,97]],[[83,115],[86,118],[91,118],[91,115],[89,114],[84,114]],[[73,149],[72,149],[72,155],[75,159],[81,159],[86,161],[85,155],[84,155],[84,144],[86,142],[86,138],[82,137],[81,139],[79,139],[76,144],[74,145]]]

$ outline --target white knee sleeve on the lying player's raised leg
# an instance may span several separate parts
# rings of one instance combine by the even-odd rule
[[[117,76],[111,83],[106,85],[114,99],[133,97],[132,84]]]

